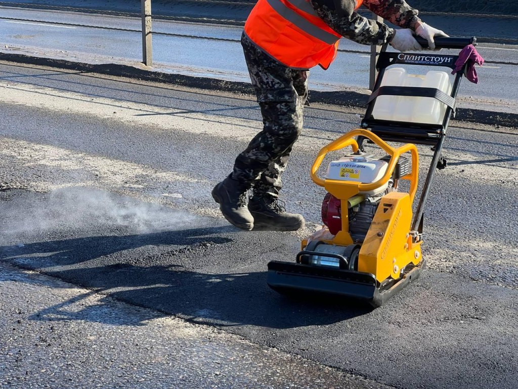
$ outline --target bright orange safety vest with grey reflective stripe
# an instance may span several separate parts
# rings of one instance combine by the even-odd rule
[[[363,0],[356,0],[356,8]],[[244,24],[244,33],[277,61],[294,69],[336,58],[342,37],[316,15],[309,0],[258,0]]]

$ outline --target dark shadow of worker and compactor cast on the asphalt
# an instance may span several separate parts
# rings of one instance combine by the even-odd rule
[[[221,327],[319,326],[370,312],[362,305],[344,307],[344,302],[306,298],[297,301],[280,296],[268,288],[266,263],[259,263],[257,258],[242,259],[245,266],[240,269],[246,267],[248,261],[250,272],[228,271],[232,270],[228,268],[231,265],[221,262],[221,253],[218,254],[231,246],[227,243],[232,239],[221,236],[228,232],[235,230],[224,226],[54,240],[23,247],[4,246],[0,247],[0,253],[17,266],[37,269],[108,297]],[[173,246],[169,246],[171,242],[174,242]],[[144,246],[162,245],[167,246],[158,253],[153,251],[150,255],[149,249],[147,255],[138,252]],[[220,268],[227,271],[218,272]],[[89,296],[89,293],[84,294],[84,297]],[[91,307],[88,304],[79,308],[79,312],[73,312],[70,306],[77,308],[78,299],[81,296],[47,308],[33,318],[78,318],[128,324],[122,317],[89,315]],[[156,317],[156,312],[152,316]]]

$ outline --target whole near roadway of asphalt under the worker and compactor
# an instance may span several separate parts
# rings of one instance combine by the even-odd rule
[[[75,387],[92,387],[95,377],[116,387],[141,373],[138,387],[175,387],[184,368],[192,387],[518,382],[518,126],[453,122],[445,144],[450,165],[437,173],[425,214],[428,267],[371,311],[289,300],[265,282],[267,262],[294,260],[300,237],[319,226],[324,191],[310,182],[308,168],[320,147],[357,126],[356,110],[306,109],[283,198],[308,223],[289,234],[236,230],[210,197],[260,128],[250,96],[2,63],[0,101],[0,320],[15,328],[0,332],[0,365],[8,367],[0,383],[72,387],[65,384],[71,372]],[[426,165],[431,151],[420,152]],[[174,326],[153,335],[160,319],[189,328],[194,340],[176,339]],[[33,345],[51,326],[61,340]],[[127,339],[143,330],[172,364],[153,362],[165,376],[139,365],[153,360],[142,349],[123,356],[137,347]],[[99,335],[90,339],[89,331]],[[222,367],[199,365],[196,339],[206,331],[216,335],[202,353]],[[122,361],[110,365],[112,374],[101,371],[94,346],[101,358]],[[228,362],[234,350],[251,353],[254,368],[264,359],[274,377],[285,358],[305,380],[282,369],[278,380],[253,370],[258,381],[246,383],[247,365],[233,370]],[[262,358],[264,350],[271,358]],[[174,370],[186,359],[192,366]],[[25,374],[28,364],[45,371]],[[215,372],[227,381],[218,383]]]

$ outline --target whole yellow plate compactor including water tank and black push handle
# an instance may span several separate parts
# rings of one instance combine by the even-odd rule
[[[420,43],[426,45],[426,41]],[[475,43],[474,37],[436,38],[438,48],[462,49]],[[327,191],[322,229],[301,242],[295,262],[268,263],[267,283],[281,294],[324,294],[379,307],[417,279],[425,265],[421,252],[424,204],[435,169],[447,164],[441,149],[467,64],[451,85],[445,72],[413,75],[401,65],[453,69],[458,55],[385,50],[386,46],[378,58],[379,74],[362,128],[322,148],[311,168],[313,182]],[[366,154],[364,141],[381,148],[386,156]],[[403,145],[396,148],[389,142]],[[416,144],[433,146],[434,155],[414,215],[419,176]],[[326,155],[349,146],[352,152],[330,162],[325,178],[320,178]],[[408,190],[399,191],[404,180],[408,185],[401,186]]]

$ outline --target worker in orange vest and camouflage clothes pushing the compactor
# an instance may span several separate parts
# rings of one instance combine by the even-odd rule
[[[358,15],[362,3],[401,28]],[[295,231],[304,226],[302,215],[285,211],[279,191],[303,126],[309,69],[320,65],[326,70],[341,37],[363,45],[388,42],[398,51],[422,50],[414,35],[425,38],[430,49],[435,49],[435,36],[448,36],[422,22],[405,0],[257,1],[241,45],[264,127],[237,156],[232,173],[212,190],[229,223],[243,230]]]

